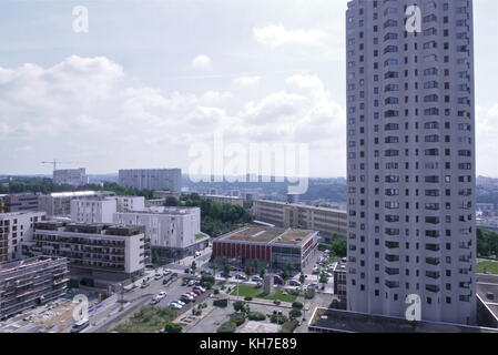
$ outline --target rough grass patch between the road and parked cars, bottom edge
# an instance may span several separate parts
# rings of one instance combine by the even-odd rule
[[[118,333],[155,333],[177,317],[177,312],[170,308],[143,306],[132,317],[119,324],[113,331]]]

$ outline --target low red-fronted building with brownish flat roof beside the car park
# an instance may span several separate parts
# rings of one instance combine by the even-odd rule
[[[247,226],[213,240],[213,256],[238,258],[242,265],[257,260],[263,266],[295,270],[306,266],[318,245],[318,232]]]

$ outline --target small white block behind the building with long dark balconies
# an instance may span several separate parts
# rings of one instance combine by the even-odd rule
[[[77,223],[112,223],[118,203],[106,200],[84,199],[71,201],[71,221]]]

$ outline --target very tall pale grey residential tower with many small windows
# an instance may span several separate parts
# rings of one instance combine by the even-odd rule
[[[347,306],[474,324],[472,1],[413,4],[348,2]]]

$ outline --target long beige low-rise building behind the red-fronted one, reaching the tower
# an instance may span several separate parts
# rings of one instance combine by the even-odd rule
[[[327,207],[255,200],[254,220],[281,227],[308,229],[325,240],[347,236],[347,212]]]

